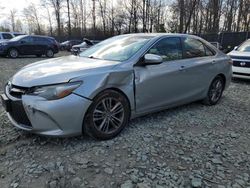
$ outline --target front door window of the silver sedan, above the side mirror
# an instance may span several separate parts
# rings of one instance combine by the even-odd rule
[[[182,59],[181,40],[178,37],[162,39],[148,53],[160,55],[164,61]]]

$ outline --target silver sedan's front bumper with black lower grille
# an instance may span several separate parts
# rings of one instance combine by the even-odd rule
[[[1,99],[14,126],[48,136],[82,134],[84,115],[91,104],[91,100],[73,93],[49,101],[33,95],[12,96],[8,89]]]

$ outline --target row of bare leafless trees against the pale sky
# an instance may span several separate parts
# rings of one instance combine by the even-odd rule
[[[40,0],[10,10],[0,30],[80,38],[136,32],[250,30],[249,0]]]

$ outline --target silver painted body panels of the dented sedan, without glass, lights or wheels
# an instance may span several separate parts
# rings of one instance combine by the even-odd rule
[[[11,79],[12,84],[33,87],[83,81],[73,94],[55,101],[23,95],[23,105],[34,125],[29,131],[56,136],[81,134],[84,115],[92,100],[98,93],[109,88],[121,91],[128,98],[133,118],[204,98],[210,83],[218,74],[225,75],[228,87],[232,73],[228,64],[230,58],[194,36],[212,48],[216,55],[136,66],[155,42],[164,37],[187,35],[152,36],[154,38],[149,43],[124,62],[69,56],[42,61],[21,69]],[[23,125],[14,124],[26,129]]]

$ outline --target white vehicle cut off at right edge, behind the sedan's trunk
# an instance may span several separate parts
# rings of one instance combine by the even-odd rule
[[[233,77],[250,79],[250,39],[236,46],[228,55],[233,60]]]

